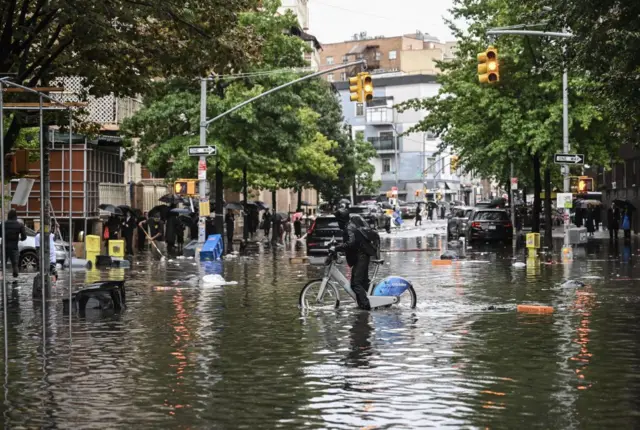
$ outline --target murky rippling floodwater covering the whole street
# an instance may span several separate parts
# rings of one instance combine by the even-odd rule
[[[139,257],[76,272],[74,288],[126,279],[119,314],[62,314],[31,277],[9,285],[4,428],[544,428],[640,426],[640,247],[598,242],[571,265],[517,268],[481,247],[432,266],[437,238],[385,239],[383,275],[413,281],[414,311],[303,314],[320,269],[267,249],[210,263],[237,285],[203,287],[193,260]],[[614,249],[615,248],[615,249]],[[410,250],[410,252],[402,252]],[[297,251],[299,254],[300,251]],[[522,253],[519,253],[520,256]],[[587,286],[562,288],[566,279]],[[162,288],[158,288],[162,287]],[[516,305],[553,306],[524,315]],[[493,308],[491,308],[493,307]],[[3,350],[2,356],[5,355]]]

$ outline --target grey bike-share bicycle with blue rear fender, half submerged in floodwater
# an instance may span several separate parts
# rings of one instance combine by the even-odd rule
[[[310,281],[300,291],[299,306],[302,309],[333,308],[340,306],[340,294],[338,287],[356,301],[356,294],[351,289],[349,280],[338,270],[337,265],[342,262],[336,252],[329,252],[325,259],[324,277]],[[376,276],[384,260],[371,260],[375,265],[373,277],[367,295],[371,303],[371,309],[390,307],[393,305],[416,307],[416,292],[408,280],[399,276],[389,276],[377,285]]]

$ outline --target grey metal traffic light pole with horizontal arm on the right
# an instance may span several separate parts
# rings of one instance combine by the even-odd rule
[[[535,31],[535,30],[512,30],[512,29],[491,29],[487,31],[490,36],[498,36],[501,34],[522,35],[522,36],[546,36],[546,37],[560,37],[569,38],[573,37],[573,34],[563,32],[552,31]],[[569,78],[566,63],[562,72],[562,150],[565,154],[568,154],[571,150],[569,145]],[[564,192],[571,192],[570,178],[569,178],[569,166],[564,164],[562,166],[562,174],[564,176]],[[565,259],[573,259],[573,251],[569,243],[569,210],[565,209],[565,222],[564,222],[564,246],[562,247],[562,255]]]

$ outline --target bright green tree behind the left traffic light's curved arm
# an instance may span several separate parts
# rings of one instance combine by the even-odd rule
[[[238,77],[220,77],[207,98],[212,118],[264,91],[289,82],[293,72],[269,73],[280,67],[305,65],[304,41],[290,34],[297,25],[291,13],[277,14],[279,3],[266,1],[260,11],[240,16],[241,27],[256,34],[261,56]],[[219,91],[224,86],[224,91]],[[125,122],[131,150],[152,171],[189,177],[195,160],[186,147],[199,143],[199,85],[185,80],[159,84],[146,107]],[[207,142],[218,146],[218,167],[225,186],[240,189],[242,171],[253,187],[301,188],[337,179],[340,164],[333,156],[341,130],[340,106],[330,86],[320,79],[304,82],[260,99],[214,123]]]

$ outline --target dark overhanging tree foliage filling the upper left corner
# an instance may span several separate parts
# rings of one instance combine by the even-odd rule
[[[154,78],[199,77],[242,67],[259,54],[238,14],[257,0],[5,0],[0,75],[34,86],[81,76],[85,94],[135,96]],[[19,96],[17,96],[19,97]],[[13,116],[5,150],[25,125]]]

